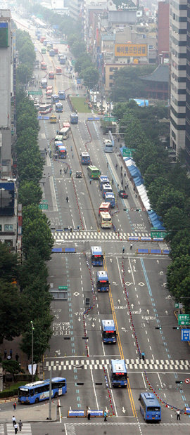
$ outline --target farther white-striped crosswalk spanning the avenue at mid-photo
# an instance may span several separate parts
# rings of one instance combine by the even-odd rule
[[[99,233],[99,231],[52,231],[53,239],[56,242],[65,240],[67,242],[72,240],[129,240],[130,237],[136,238],[150,238],[149,233],[115,233],[115,231],[108,231],[106,233]]]

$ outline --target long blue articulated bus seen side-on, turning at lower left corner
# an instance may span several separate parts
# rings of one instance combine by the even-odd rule
[[[56,398],[67,392],[65,377],[51,379],[51,397]],[[49,379],[31,382],[18,388],[18,403],[38,403],[49,398]]]

